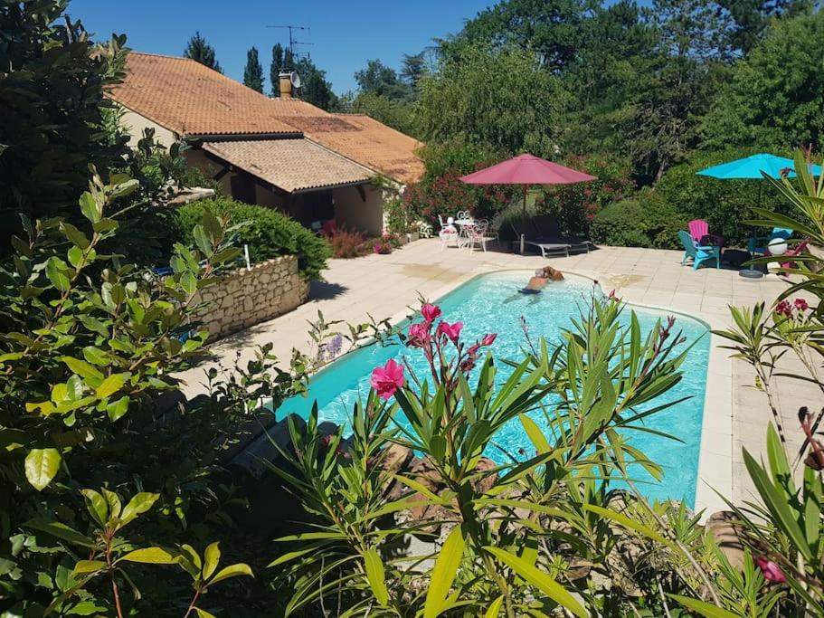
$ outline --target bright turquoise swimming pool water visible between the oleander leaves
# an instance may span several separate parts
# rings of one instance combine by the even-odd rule
[[[525,346],[521,317],[526,319],[530,337],[537,343],[538,338],[546,338],[549,344],[560,343],[561,330],[569,328],[571,320],[580,315],[592,296],[592,281],[582,278],[567,278],[563,282],[547,286],[543,293],[525,296],[517,293],[530,276],[528,271],[507,271],[483,275],[470,280],[459,289],[440,299],[437,304],[443,309],[443,319],[449,322],[462,321],[461,339],[472,342],[485,333],[496,332],[497,339],[491,350],[497,358],[520,360],[521,349]],[[600,292],[599,292],[600,293]],[[645,331],[653,327],[657,319],[667,314],[655,309],[639,307],[634,309]],[[682,381],[665,397],[673,401],[690,397],[668,410],[655,414],[647,420],[652,429],[677,436],[683,442],[661,438],[650,433],[631,432],[627,435],[630,443],[649,459],[658,462],[664,469],[664,479],[655,482],[637,470],[637,479],[648,479],[639,488],[650,499],[685,499],[691,506],[695,499],[698,452],[701,443],[701,422],[704,414],[704,394],[706,388],[706,361],[709,356],[709,336],[706,325],[695,319],[677,316],[675,330],[681,330],[687,338],[685,347],[695,344],[687,354],[682,366]],[[284,402],[277,414],[299,414],[306,418],[317,400],[321,421],[331,421],[347,425],[349,414],[358,397],[369,391],[369,378],[375,366],[384,365],[389,358],[407,357],[418,376],[427,376],[425,359],[419,350],[400,345],[371,346],[352,352],[340,358],[317,373],[309,385],[309,397],[293,397]],[[498,364],[498,380],[505,380],[511,371]],[[662,399],[661,402],[663,403]],[[544,414],[532,413],[539,426],[545,427]],[[516,454],[520,448],[532,451],[521,424],[509,423],[496,436],[496,444],[509,453]],[[493,460],[510,461],[501,448],[491,446],[485,453]]]

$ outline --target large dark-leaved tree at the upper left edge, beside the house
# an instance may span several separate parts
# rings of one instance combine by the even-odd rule
[[[0,240],[30,219],[74,214],[89,165],[126,147],[103,126],[123,76],[124,36],[95,45],[60,1],[0,3]],[[7,242],[0,243],[5,250]]]

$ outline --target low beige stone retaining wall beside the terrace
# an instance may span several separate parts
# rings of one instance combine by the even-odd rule
[[[308,299],[309,285],[298,274],[298,258],[285,255],[232,271],[201,292],[197,302],[209,303],[196,319],[221,338],[276,318]]]

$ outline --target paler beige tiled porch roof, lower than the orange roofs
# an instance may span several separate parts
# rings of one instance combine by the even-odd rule
[[[374,176],[308,139],[231,139],[204,142],[203,148],[289,193],[361,183]]]

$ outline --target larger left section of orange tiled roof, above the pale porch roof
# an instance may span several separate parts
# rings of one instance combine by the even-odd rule
[[[268,97],[187,58],[129,52],[126,78],[109,96],[182,136],[300,134]]]

